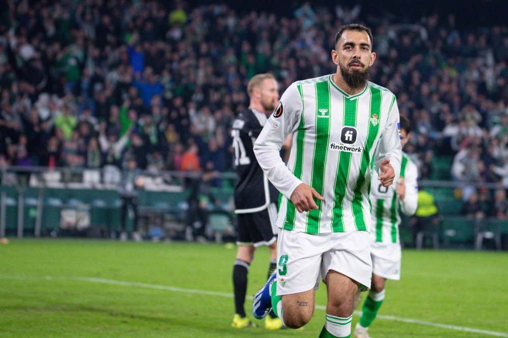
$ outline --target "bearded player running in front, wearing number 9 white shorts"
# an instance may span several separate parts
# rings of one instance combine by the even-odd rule
[[[252,313],[263,318],[273,309],[299,328],[312,317],[322,279],[328,302],[320,337],[350,337],[355,295],[370,288],[372,275],[371,171],[384,187],[400,172],[399,111],[393,93],[367,81],[375,60],[369,28],[341,27],[331,57],[335,74],[289,86],[254,145],[283,197],[277,272],[255,295]],[[286,166],[279,149],[288,134]]]

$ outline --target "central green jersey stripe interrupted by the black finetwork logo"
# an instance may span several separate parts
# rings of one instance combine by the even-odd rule
[[[344,122],[343,126],[356,126],[356,115],[358,109],[358,100],[344,100]],[[339,154],[339,162],[337,163],[337,174],[335,181],[335,201],[332,213],[332,230],[333,232],[344,231],[344,212],[342,210],[342,202],[346,194],[347,177],[349,176],[351,165],[351,153],[341,151]]]

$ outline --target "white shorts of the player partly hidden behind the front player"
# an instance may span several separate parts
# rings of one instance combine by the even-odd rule
[[[400,280],[400,260],[402,257],[398,243],[370,243],[372,273],[386,279]]]

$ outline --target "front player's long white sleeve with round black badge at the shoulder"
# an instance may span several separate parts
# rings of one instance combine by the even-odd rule
[[[279,104],[254,145],[254,153],[263,172],[288,199],[291,199],[294,190],[303,182],[284,164],[279,151],[288,135],[297,129],[302,107],[300,93],[293,83],[282,94]],[[308,195],[308,192],[306,194]]]

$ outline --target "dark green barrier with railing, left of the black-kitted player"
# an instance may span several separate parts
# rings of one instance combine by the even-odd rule
[[[120,228],[122,187],[118,168],[10,166],[2,168],[0,175],[0,237],[86,235],[92,230],[104,234]],[[139,171],[136,185],[140,219],[181,227],[179,223],[184,222],[188,208],[184,182],[199,177],[200,173],[193,172]],[[215,232],[231,230],[231,221],[220,227],[217,219],[220,215],[232,219],[236,174],[220,173],[219,178],[221,186],[213,188],[219,203],[209,207]],[[128,217],[128,225],[132,226],[132,221]],[[219,238],[221,235],[217,234]]]

